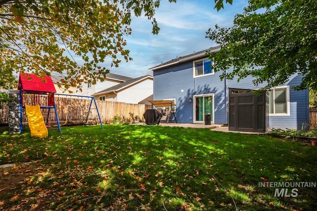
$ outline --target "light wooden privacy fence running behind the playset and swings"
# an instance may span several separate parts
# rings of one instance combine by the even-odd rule
[[[40,96],[43,105],[47,106],[47,97]],[[26,99],[28,105],[32,105],[32,99]],[[81,97],[55,97],[55,105],[57,108],[58,118],[61,124],[66,122],[84,122],[86,121],[87,113],[91,99]],[[121,102],[110,102],[110,101],[96,101],[100,117],[103,123],[113,121],[114,116],[120,116],[121,118],[130,119],[129,113],[134,113],[134,116],[139,116],[143,119],[143,113],[147,109],[151,109],[151,105],[143,104],[127,104]],[[97,109],[95,104],[92,102],[89,121],[99,122]],[[25,116],[25,114],[23,114]],[[8,106],[2,105],[0,108],[0,123],[8,123]]]

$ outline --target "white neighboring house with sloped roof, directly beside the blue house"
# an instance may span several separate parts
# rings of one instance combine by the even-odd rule
[[[96,100],[139,104],[145,99],[153,100],[153,76],[146,75],[114,85],[92,94]]]

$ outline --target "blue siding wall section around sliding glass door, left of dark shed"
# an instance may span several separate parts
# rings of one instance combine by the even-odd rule
[[[193,62],[186,62],[155,71],[154,90],[154,100],[176,99],[176,118],[180,123],[194,122],[194,107],[189,98],[214,94],[214,123],[227,123],[224,81],[220,81],[219,73],[194,78]]]

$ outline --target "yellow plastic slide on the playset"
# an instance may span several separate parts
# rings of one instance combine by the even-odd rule
[[[29,128],[32,137],[44,138],[49,135],[48,128],[45,126],[44,118],[41,113],[40,105],[25,105],[26,116],[28,117]]]

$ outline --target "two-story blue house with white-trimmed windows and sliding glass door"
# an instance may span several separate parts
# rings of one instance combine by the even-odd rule
[[[207,51],[218,50],[219,47],[214,47],[192,53],[150,69],[154,76],[154,100],[173,101],[177,122],[204,124],[208,116],[205,114],[210,114],[211,124],[228,124],[229,88],[261,88],[254,86],[251,77],[239,83],[237,79],[221,81],[221,72],[213,72],[212,61],[206,55]],[[309,92],[292,88],[299,85],[301,79],[301,75],[293,75],[287,83],[268,92],[268,128],[301,129],[307,126]]]

